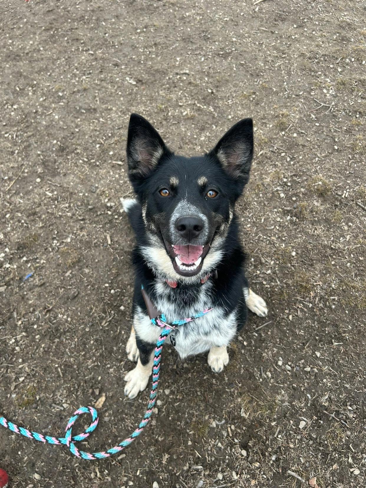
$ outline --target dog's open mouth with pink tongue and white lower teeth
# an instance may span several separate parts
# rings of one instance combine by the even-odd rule
[[[173,262],[174,270],[182,276],[194,276],[198,274],[203,265],[203,259],[207,254],[210,244],[206,245],[173,245],[164,244]]]

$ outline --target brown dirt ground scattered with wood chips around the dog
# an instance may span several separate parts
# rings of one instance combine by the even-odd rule
[[[11,488],[365,486],[365,15],[357,0],[0,2],[0,413],[62,436],[105,394],[91,451],[140,422],[147,391],[123,396],[132,111],[184,155],[253,117],[237,209],[270,309],[220,375],[164,347],[158,413],[120,456],[0,427]]]

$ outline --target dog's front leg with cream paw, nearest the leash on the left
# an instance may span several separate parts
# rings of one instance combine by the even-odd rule
[[[136,337],[135,342],[139,351],[139,359],[135,368],[124,377],[127,382],[124,387],[124,394],[128,398],[135,398],[140,391],[146,388],[154,363],[155,345],[145,343],[138,337]]]

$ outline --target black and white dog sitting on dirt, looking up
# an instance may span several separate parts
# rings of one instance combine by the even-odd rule
[[[179,327],[175,348],[181,358],[209,351],[208,364],[217,373],[229,361],[226,348],[245,324],[247,308],[260,317],[267,314],[244,275],[234,212],[252,156],[251,119],[231,127],[208,154],[185,158],[168,149],[143,117],[131,115],[127,161],[137,200],[122,201],[137,240],[133,326],[126,346],[137,365],[124,378],[129,398],[147,386],[161,332],[150,321],[142,286],[167,323],[212,308]]]

